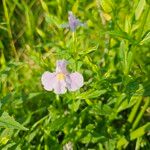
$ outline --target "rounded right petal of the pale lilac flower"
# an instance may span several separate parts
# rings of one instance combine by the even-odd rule
[[[83,86],[84,79],[83,79],[82,74],[78,72],[74,72],[74,73],[71,73],[69,76],[70,76],[71,82],[70,82],[70,85],[67,87],[70,91],[76,91],[80,87]]]

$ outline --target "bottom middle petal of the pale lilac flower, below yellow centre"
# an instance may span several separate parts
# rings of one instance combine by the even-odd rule
[[[56,94],[64,94],[66,93],[66,82],[65,80],[57,80],[57,82],[54,85],[54,92]]]

